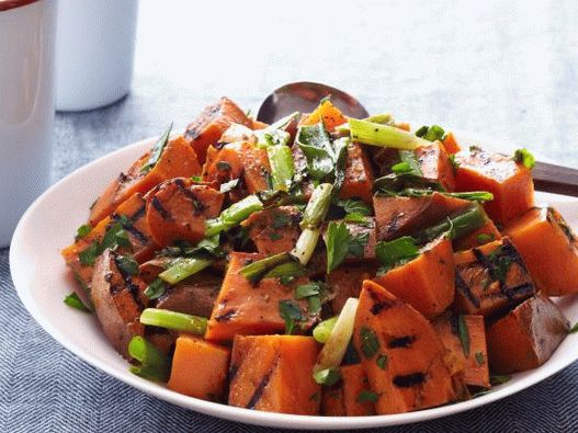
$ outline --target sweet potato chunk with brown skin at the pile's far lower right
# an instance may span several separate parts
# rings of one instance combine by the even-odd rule
[[[488,329],[491,368],[509,374],[544,364],[568,333],[569,322],[544,295],[520,304]]]

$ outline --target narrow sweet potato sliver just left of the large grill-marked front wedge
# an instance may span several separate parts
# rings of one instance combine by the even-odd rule
[[[341,378],[343,380],[345,414],[348,417],[374,415],[375,403],[371,400],[360,401],[360,396],[363,391],[371,391],[363,365],[353,364],[342,366]]]

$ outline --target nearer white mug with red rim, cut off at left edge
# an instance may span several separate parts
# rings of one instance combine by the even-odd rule
[[[49,183],[55,0],[0,0],[0,248]]]

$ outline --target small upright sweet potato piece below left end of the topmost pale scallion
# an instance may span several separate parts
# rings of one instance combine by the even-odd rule
[[[365,149],[351,143],[347,150],[345,179],[339,191],[341,198],[360,198],[372,204],[373,172]]]

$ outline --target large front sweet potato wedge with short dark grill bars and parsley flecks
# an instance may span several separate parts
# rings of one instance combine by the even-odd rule
[[[378,284],[365,281],[353,330],[377,414],[453,401],[444,347],[430,322]]]

